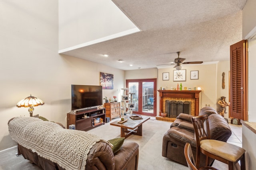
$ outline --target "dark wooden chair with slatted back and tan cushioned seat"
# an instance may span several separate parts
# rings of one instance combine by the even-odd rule
[[[245,170],[245,150],[236,145],[210,139],[210,128],[207,115],[191,118],[196,135],[196,167],[199,166],[200,152],[206,155],[206,166],[209,166],[209,157],[228,164],[229,170],[234,170],[240,160],[241,170]]]

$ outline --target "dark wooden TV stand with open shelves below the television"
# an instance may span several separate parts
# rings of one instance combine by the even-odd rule
[[[87,115],[86,118],[85,115]],[[95,107],[76,111],[76,113],[67,113],[67,129],[69,125],[75,125],[76,130],[88,131],[99,125],[104,125],[105,122],[105,108],[98,109]]]

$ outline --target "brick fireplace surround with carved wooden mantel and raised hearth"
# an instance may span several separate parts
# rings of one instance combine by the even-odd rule
[[[161,113],[166,113],[165,103],[166,100],[176,100],[176,101],[188,101],[190,102],[190,114],[198,115],[199,104],[200,104],[200,93],[201,90],[158,90],[160,98],[160,109],[159,116],[156,119],[164,121],[174,121],[176,118],[161,117]]]

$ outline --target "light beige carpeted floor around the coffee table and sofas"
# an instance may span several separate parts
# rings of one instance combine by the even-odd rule
[[[112,119],[116,121],[117,119]],[[143,136],[131,135],[127,141],[135,141],[139,144],[138,170],[187,170],[188,167],[178,164],[162,156],[162,137],[170,122],[149,119],[143,124]],[[105,140],[120,137],[120,127],[111,126],[110,123],[101,125],[88,131]],[[30,164],[30,161],[23,156],[15,156],[16,149],[8,150],[7,153],[0,153],[0,170],[38,170],[39,168]],[[214,167],[219,170],[227,170],[228,166],[222,162],[215,161]]]

